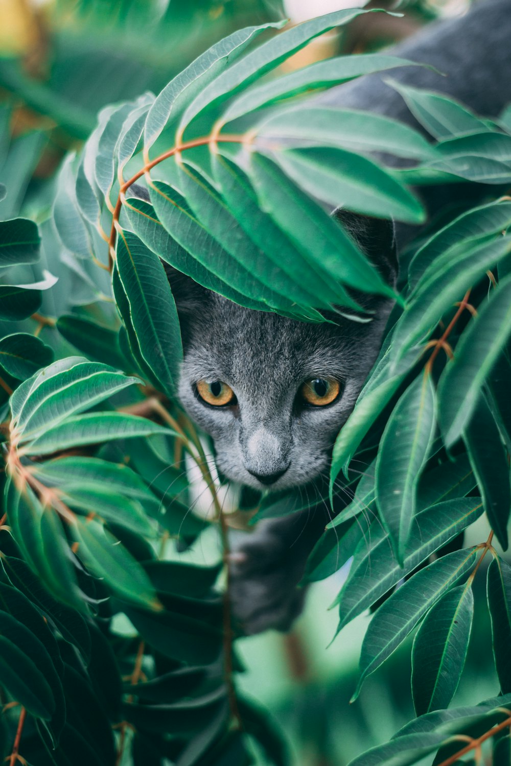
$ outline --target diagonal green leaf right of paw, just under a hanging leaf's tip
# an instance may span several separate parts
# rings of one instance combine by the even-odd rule
[[[476,521],[482,512],[479,498],[470,497],[446,500],[421,510],[415,516],[402,567],[395,558],[388,534],[373,522],[367,540],[362,538],[355,548],[348,578],[332,604],[332,607],[339,604],[337,633],[438,548]]]

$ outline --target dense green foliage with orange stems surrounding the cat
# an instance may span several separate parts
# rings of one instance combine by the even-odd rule
[[[418,718],[357,764],[411,764],[437,752],[447,766],[492,738],[495,763],[502,757],[511,575],[493,535],[506,550],[509,198],[490,189],[490,201],[421,235],[398,295],[319,201],[349,199],[356,212],[421,223],[411,182],[509,185],[509,115],[493,123],[396,85],[436,139],[429,143],[382,116],[296,99],[402,64],[388,55],[264,78],[364,12],[278,34],[282,25],[271,23],[234,31],[156,98],[106,107],[82,151],[64,160],[40,226],[15,218],[40,139],[25,139],[23,151],[17,139],[5,152],[0,685],[13,703],[1,745],[11,763],[19,748],[38,766],[249,764],[254,741],[266,762],[288,760],[267,715],[235,686],[242,666],[229,614],[228,519],[204,441],[176,400],[182,345],[162,261],[242,306],[303,321],[323,321],[325,310],[370,321],[354,290],[396,298],[378,362],[333,451],[332,499],[339,486],[354,497],[316,546],[306,579],[353,557],[335,602],[339,630],[377,607],[355,696],[418,627]],[[7,112],[4,124],[7,143]],[[9,159],[15,152],[21,164]],[[389,169],[368,152],[418,165]],[[149,201],[133,189],[139,180]],[[185,454],[211,493],[213,519],[193,512]],[[369,463],[361,479],[355,460]],[[259,517],[295,509],[294,496],[263,499]],[[483,512],[490,536],[463,548],[460,536]],[[211,527],[221,538],[216,561],[170,560],[169,540],[185,549]],[[502,696],[447,709],[470,640],[473,582],[489,552]]]

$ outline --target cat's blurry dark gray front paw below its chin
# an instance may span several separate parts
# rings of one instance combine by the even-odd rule
[[[303,561],[293,561],[289,546],[261,529],[231,551],[230,598],[234,623],[245,635],[289,630],[303,608],[297,588]]]

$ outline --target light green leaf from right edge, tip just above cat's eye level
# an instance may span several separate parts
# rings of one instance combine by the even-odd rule
[[[396,361],[424,336],[427,336],[452,304],[461,300],[473,283],[480,280],[511,248],[511,237],[476,244],[461,249],[450,264],[441,267],[436,262],[424,271],[414,298],[399,320],[392,345]]]

